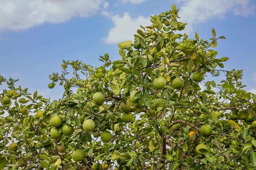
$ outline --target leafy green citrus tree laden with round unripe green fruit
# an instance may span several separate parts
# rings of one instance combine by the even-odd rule
[[[0,169],[256,169],[255,94],[242,70],[222,69],[214,48],[225,37],[189,39],[178,19],[175,5],[151,16],[118,44],[120,60],[63,60],[49,76],[60,100],[1,76]]]

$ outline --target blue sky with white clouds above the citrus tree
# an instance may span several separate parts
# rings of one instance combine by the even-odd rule
[[[244,70],[243,84],[256,93],[255,0],[8,0],[0,1],[0,75],[44,97],[62,97],[48,88],[48,75],[60,72],[62,59],[100,66],[100,55],[120,59],[117,44],[133,41],[139,25],[176,4],[185,32],[218,41],[218,58],[229,57],[225,70]],[[0,86],[0,90],[6,88]]]

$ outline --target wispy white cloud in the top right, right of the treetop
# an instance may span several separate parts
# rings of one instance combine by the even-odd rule
[[[225,17],[227,13],[234,13],[239,16],[249,16],[255,13],[255,6],[250,0],[178,0],[184,2],[179,9],[178,15],[186,25],[186,33],[193,32],[193,27],[203,23],[210,18]]]

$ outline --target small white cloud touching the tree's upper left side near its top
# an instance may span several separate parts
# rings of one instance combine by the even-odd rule
[[[102,14],[110,17],[114,23],[114,27],[108,32],[108,36],[103,39],[107,44],[120,43],[128,40],[133,41],[133,35],[137,34],[136,31],[137,29],[140,29],[140,25],[151,25],[149,18],[143,16],[131,18],[128,12],[125,12],[123,17],[120,17],[119,15],[112,16],[108,12],[103,12]]]

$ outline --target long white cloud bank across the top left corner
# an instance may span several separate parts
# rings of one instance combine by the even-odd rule
[[[104,0],[8,0],[0,1],[0,31],[19,31],[46,22],[63,23],[74,16],[88,17]]]

